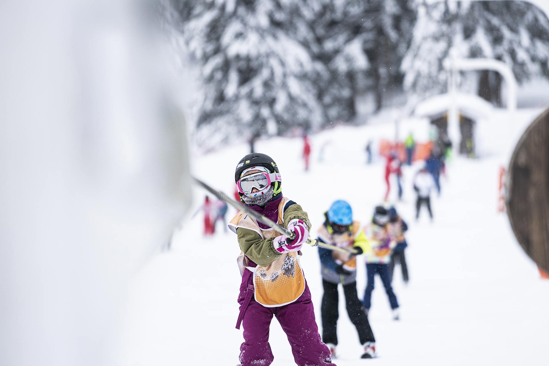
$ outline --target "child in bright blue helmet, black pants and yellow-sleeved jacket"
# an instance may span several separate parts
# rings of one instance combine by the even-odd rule
[[[324,216],[326,221],[318,229],[318,241],[337,247],[354,247],[360,253],[369,251],[368,240],[360,229],[360,223],[352,220],[351,206],[346,201],[335,201]],[[360,344],[364,346],[361,358],[376,357],[376,339],[356,293],[356,257],[322,247],[318,247],[318,255],[324,288],[321,307],[322,341],[330,349],[332,358],[335,358],[335,346],[338,344],[338,284],[341,284],[347,314],[355,325]]]

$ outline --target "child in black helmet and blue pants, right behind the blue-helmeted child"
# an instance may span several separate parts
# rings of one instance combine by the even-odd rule
[[[385,207],[377,206],[374,210],[372,223],[365,228],[366,238],[369,240],[372,250],[365,253],[366,272],[368,282],[364,292],[364,307],[366,312],[370,309],[372,291],[374,289],[374,275],[379,274],[389,297],[391,309],[393,309],[393,319],[399,319],[399,302],[396,300],[395,292],[391,286],[391,275],[389,273],[389,262],[391,260],[391,251],[396,245],[391,240],[387,230],[388,213]]]

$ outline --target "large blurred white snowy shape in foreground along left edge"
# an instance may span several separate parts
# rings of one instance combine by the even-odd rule
[[[181,92],[144,4],[1,5],[2,365],[116,364],[126,282],[189,205]]]

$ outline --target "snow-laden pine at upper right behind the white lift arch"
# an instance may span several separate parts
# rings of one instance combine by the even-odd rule
[[[420,7],[413,40],[401,69],[405,88],[416,95],[445,92],[442,61],[450,49],[456,57],[495,58],[511,65],[519,83],[549,78],[549,20],[534,5],[522,2],[441,3]],[[474,87],[479,95],[500,103],[501,79],[480,72]]]

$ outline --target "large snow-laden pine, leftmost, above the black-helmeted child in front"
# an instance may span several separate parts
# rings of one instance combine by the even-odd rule
[[[313,61],[296,41],[299,0],[195,2],[183,35],[202,65],[198,142],[283,133],[322,120]]]

